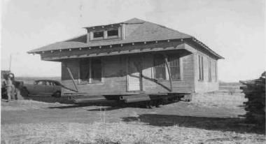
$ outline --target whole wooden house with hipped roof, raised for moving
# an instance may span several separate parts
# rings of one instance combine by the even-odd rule
[[[218,90],[218,59],[188,34],[133,18],[29,53],[61,62],[62,84],[87,96],[177,96]],[[73,93],[62,89],[62,94]]]

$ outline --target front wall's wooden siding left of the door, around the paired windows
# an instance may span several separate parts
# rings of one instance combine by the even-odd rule
[[[75,61],[65,61],[71,69],[73,75],[78,75],[79,73],[79,63],[78,60]],[[125,57],[102,57],[102,71],[103,79],[99,83],[90,84],[78,84],[78,77],[74,76],[76,84],[78,84],[79,92],[87,92],[90,94],[99,94],[107,92],[125,92],[126,91],[126,71],[125,71]],[[64,75],[64,76],[63,76]],[[62,84],[66,87],[73,88],[73,82],[64,64],[62,64]],[[62,93],[70,92],[69,90],[63,89]]]

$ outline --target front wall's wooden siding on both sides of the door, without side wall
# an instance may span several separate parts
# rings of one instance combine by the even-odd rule
[[[178,51],[182,52],[182,50]],[[173,52],[171,52],[173,53]],[[186,52],[185,52],[186,53]],[[167,54],[167,52],[166,52]],[[177,54],[176,54],[177,55]],[[102,70],[103,70],[103,81],[99,83],[90,84],[78,84],[80,92],[87,92],[89,94],[100,94],[100,93],[118,93],[127,92],[127,55],[125,56],[112,56],[102,57]],[[142,85],[143,91],[148,93],[171,93],[169,91],[170,83],[169,80],[154,80],[153,75],[153,55],[144,54],[137,55],[142,59]],[[194,92],[194,71],[193,71],[193,54],[186,54],[181,57],[181,80],[173,81],[174,93],[190,93]],[[69,59],[62,62],[62,84],[66,87],[73,88],[74,85],[66,71],[64,65],[66,64],[73,73],[75,82],[78,83],[79,75],[79,60]],[[70,92],[69,90],[63,89],[62,93]]]

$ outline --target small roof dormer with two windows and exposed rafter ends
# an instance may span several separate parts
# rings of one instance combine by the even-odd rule
[[[123,40],[125,39],[124,24],[109,24],[87,29],[87,43],[94,41]]]

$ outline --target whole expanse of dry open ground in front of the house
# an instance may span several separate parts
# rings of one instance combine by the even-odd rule
[[[265,143],[238,117],[244,94],[226,87],[153,109],[2,101],[1,143]]]

